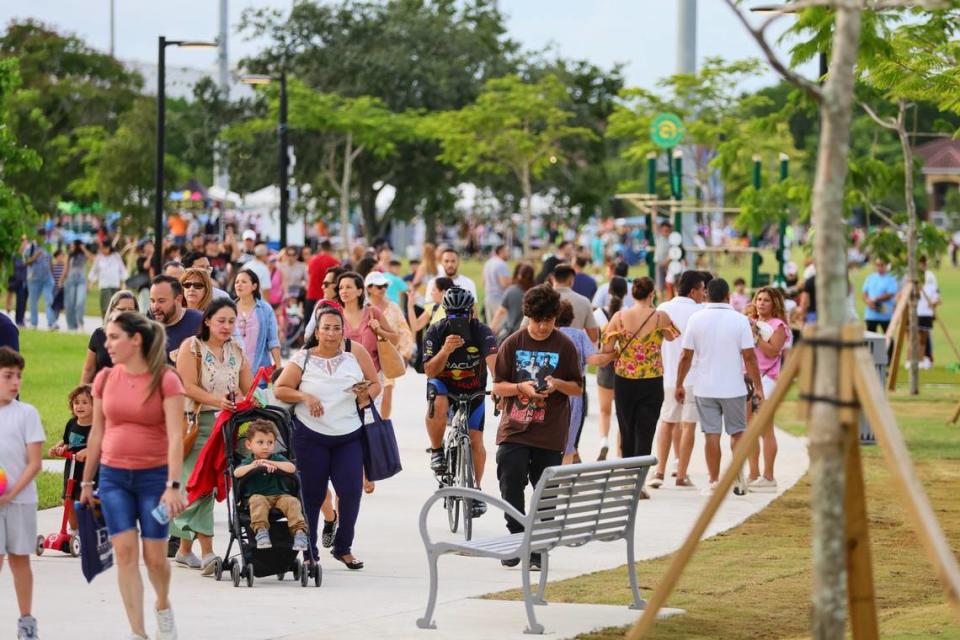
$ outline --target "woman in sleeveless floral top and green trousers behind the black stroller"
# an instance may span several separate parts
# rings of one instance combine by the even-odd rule
[[[233,301],[214,300],[204,311],[199,333],[184,340],[177,350],[177,372],[188,398],[187,411],[192,414],[200,410],[200,433],[183,461],[183,486],[213,432],[217,412],[233,411],[235,399],[245,396],[253,382],[243,348],[233,335],[236,323]],[[213,553],[213,496],[200,498],[171,520],[170,535],[180,538],[174,558],[178,564],[202,569],[203,575],[212,573],[217,558]],[[200,558],[192,550],[194,537],[200,542]]]

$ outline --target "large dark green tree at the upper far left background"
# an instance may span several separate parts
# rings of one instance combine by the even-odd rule
[[[11,98],[6,122],[18,139],[37,149],[43,169],[26,170],[11,184],[40,211],[53,211],[84,171],[77,131],[116,129],[142,80],[116,59],[39,22],[13,22],[0,36],[0,58],[20,59],[23,88]]]

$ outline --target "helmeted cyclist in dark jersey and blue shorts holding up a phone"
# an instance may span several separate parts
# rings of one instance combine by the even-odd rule
[[[460,287],[452,287],[443,294],[446,317],[430,326],[423,341],[423,370],[427,374],[427,399],[433,398],[434,411],[426,417],[430,437],[430,468],[444,470],[443,432],[450,412],[448,394],[468,395],[482,393],[487,386],[487,371],[493,374],[497,359],[497,338],[487,325],[474,315],[473,294]],[[486,450],[483,447],[484,396],[473,400],[470,407],[470,445],[473,451],[474,474],[477,487],[483,477]],[[486,505],[473,502],[474,517],[486,510]]]

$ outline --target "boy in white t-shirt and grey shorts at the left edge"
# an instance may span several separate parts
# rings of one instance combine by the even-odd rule
[[[0,347],[0,470],[6,487],[0,488],[0,568],[4,554],[10,556],[13,588],[17,592],[20,620],[18,640],[37,638],[33,606],[33,572],[30,556],[37,544],[37,487],[40,447],[46,439],[40,414],[17,400],[23,357],[9,347]]]

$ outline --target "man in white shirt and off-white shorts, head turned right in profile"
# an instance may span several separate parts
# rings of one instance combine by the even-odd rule
[[[687,323],[691,316],[703,309],[704,291],[703,274],[700,271],[684,271],[680,275],[677,286],[679,295],[661,304],[657,307],[657,311],[663,311],[670,316],[670,320],[683,336],[687,332]],[[663,407],[660,409],[660,429],[657,432],[657,468],[647,484],[653,489],[659,489],[663,484],[667,459],[670,457],[670,444],[676,443],[674,445],[677,456],[676,485],[693,488],[693,481],[687,475],[687,468],[690,466],[690,456],[693,455],[693,443],[696,438],[694,429],[697,428],[697,404],[694,400],[692,384],[696,376],[696,363],[690,366],[685,398],[680,403],[674,397],[673,385],[677,381],[677,369],[680,366],[680,356],[683,355],[681,341],[665,340],[660,345],[660,355],[663,360]]]

